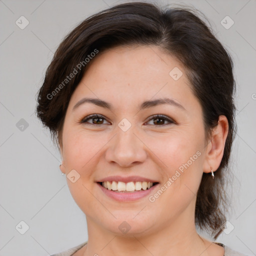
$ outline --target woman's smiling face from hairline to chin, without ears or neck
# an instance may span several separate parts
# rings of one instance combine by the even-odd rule
[[[117,234],[193,223],[206,144],[202,109],[183,67],[156,46],[99,54],[63,124],[61,170],[74,200],[90,224]],[[93,114],[99,117],[87,118]],[[119,190],[157,183],[123,192],[101,181]]]

